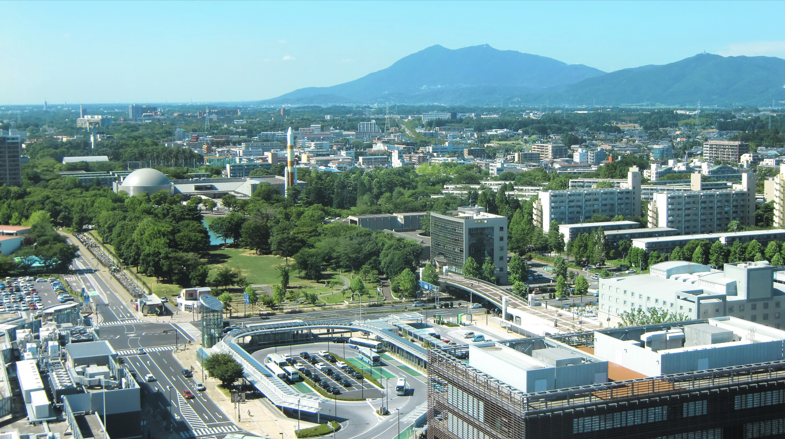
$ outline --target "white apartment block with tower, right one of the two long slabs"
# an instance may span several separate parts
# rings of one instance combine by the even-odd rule
[[[745,173],[733,190],[655,193],[648,205],[648,226],[687,235],[725,232],[731,221],[755,225],[756,181],[755,174]]]

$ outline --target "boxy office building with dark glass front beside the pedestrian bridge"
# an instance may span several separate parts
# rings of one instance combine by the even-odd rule
[[[507,284],[507,217],[484,210],[484,207],[459,207],[455,216],[431,212],[431,254],[444,258],[456,273],[461,273],[466,258],[474,258],[477,265],[491,258],[498,284],[504,285]]]

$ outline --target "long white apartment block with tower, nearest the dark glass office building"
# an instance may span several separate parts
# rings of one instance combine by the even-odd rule
[[[641,214],[641,171],[636,166],[627,172],[627,181],[621,188],[540,191],[533,211],[535,225],[545,232],[551,221],[577,224],[596,214],[611,218]]]

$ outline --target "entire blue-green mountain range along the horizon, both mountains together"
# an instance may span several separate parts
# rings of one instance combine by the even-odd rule
[[[653,104],[732,106],[785,100],[785,60],[699,53],[612,72],[491,46],[435,45],[379,71],[262,104]]]

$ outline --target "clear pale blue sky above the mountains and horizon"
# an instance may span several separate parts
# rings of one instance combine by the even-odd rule
[[[785,58],[785,2],[2,2],[0,104],[255,101],[425,47],[603,71]]]

